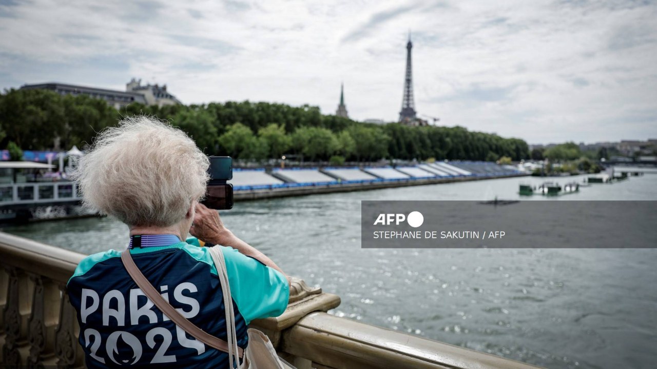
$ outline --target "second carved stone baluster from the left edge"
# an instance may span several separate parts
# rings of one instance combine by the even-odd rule
[[[60,291],[58,285],[39,275],[30,275],[34,283],[32,314],[28,320],[28,341],[30,342],[30,367],[54,366],[55,328],[59,318]]]

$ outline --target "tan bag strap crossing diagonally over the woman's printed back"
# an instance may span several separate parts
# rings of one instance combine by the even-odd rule
[[[175,325],[183,328],[185,332],[191,334],[191,336],[194,336],[194,338],[198,339],[202,343],[205,343],[214,349],[231,355],[228,348],[228,343],[226,341],[221,338],[212,336],[212,334],[204,332],[204,330],[195,326],[193,322],[190,322],[187,320],[187,318],[185,318],[185,316],[182,316],[176,309],[171,306],[170,303],[164,299],[164,297],[162,297],[162,295],[160,295],[160,293],[153,287],[153,285],[148,282],[137,265],[135,265],[135,261],[132,259],[132,255],[130,255],[130,250],[125,250],[121,253],[121,261],[123,261],[124,267],[127,269],[128,274],[130,274],[137,286],[141,288],[142,292],[144,292],[148,299],[150,299],[150,301],[152,301],[152,303],[154,303],[155,306],[158,307],[162,313],[164,313],[164,315],[168,316],[168,318],[170,318],[171,321],[175,323]],[[232,306],[233,302],[224,302],[224,305],[229,304]],[[230,324],[230,322],[226,323]],[[239,357],[244,356],[244,350],[241,347],[237,347],[237,351]]]

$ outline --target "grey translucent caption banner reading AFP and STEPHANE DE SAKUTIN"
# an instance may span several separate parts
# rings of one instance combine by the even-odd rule
[[[366,200],[361,246],[655,248],[657,202]]]

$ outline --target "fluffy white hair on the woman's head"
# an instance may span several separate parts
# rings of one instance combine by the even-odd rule
[[[133,116],[99,133],[74,179],[85,206],[129,227],[168,227],[204,195],[209,165],[180,129]]]

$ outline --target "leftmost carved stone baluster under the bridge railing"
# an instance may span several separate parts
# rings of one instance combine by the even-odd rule
[[[5,323],[3,364],[24,366],[30,351],[27,340],[27,320],[32,310],[32,288],[28,276],[19,269],[7,267],[7,274],[9,274],[9,286],[7,303],[3,309]]]

